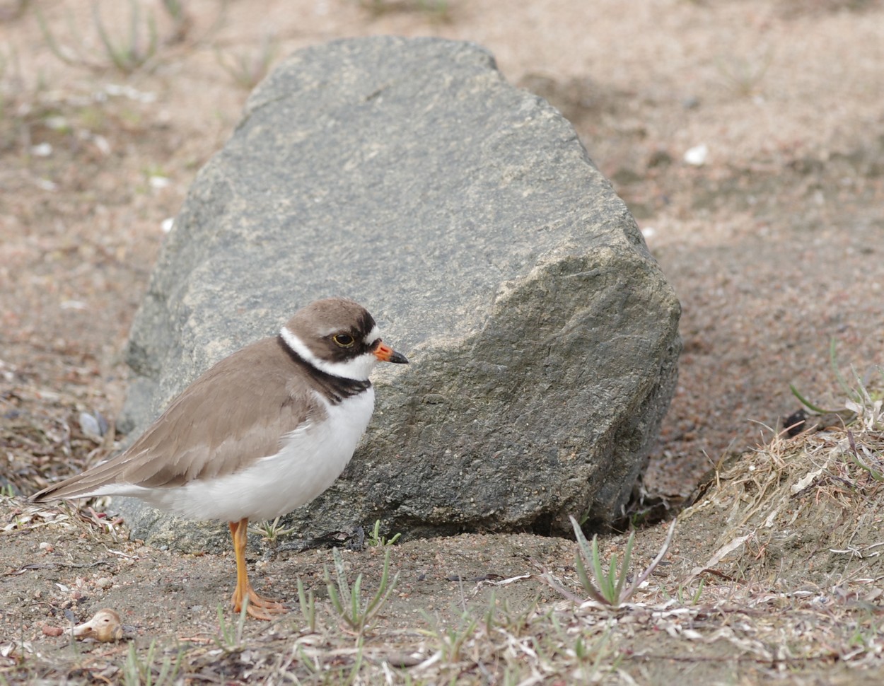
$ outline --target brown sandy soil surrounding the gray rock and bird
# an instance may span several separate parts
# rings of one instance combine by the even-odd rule
[[[113,40],[124,40],[131,5],[99,6]],[[841,407],[830,339],[845,372],[852,363],[862,377],[884,363],[880,2],[550,0],[522,8],[502,0],[271,0],[256,11],[255,3],[233,0],[220,27],[215,0],[187,4],[187,21],[178,25],[159,3],[140,6],[154,12],[161,42],[146,65],[122,73],[101,45],[92,4],[0,3],[2,487],[33,492],[114,449],[112,432],[96,439],[82,431],[80,413],[100,413],[111,425],[117,416],[126,391],[120,350],[161,225],[231,133],[266,45],[279,58],[340,36],[479,42],[509,80],[545,95],[575,124],[682,300],[680,383],[645,479],[650,492],[682,498],[713,464],[772,438],[778,419],[797,408],[789,383]],[[50,51],[37,9],[72,64]],[[685,162],[699,145],[707,146],[705,163]],[[690,670],[696,682],[749,683],[763,674],[847,683],[857,667],[880,669],[877,491],[864,471],[827,462],[839,445],[838,454],[849,454],[846,434],[833,436],[789,449],[774,441],[682,515],[661,567],[668,575],[652,577],[650,595],[640,598],[657,614],[562,609],[560,592],[539,570],[575,591],[573,542],[524,535],[408,541],[392,551],[400,586],[384,633],[366,650],[384,657],[445,644],[440,632],[459,625],[464,607],[487,607],[493,590],[514,616],[528,617],[537,595],[531,616],[563,613],[556,630],[584,636],[610,667],[593,678],[610,682],[667,682]],[[880,454],[875,440],[872,455]],[[820,468],[802,486],[812,491],[790,490]],[[65,610],[83,621],[101,606],[120,610],[141,655],[153,638],[187,641],[188,672],[202,675],[193,682],[270,678],[293,640],[302,657],[326,669],[352,669],[354,653],[328,628],[335,622],[325,605],[324,630],[305,631],[304,617],[293,613],[270,627],[247,626],[255,654],[217,648],[230,555],[150,549],[88,511],[37,509],[20,498],[0,500],[0,513],[0,681],[120,681],[126,644],[66,647],[65,637],[42,630],[65,626]],[[664,535],[642,533],[642,560]],[[300,577],[324,597],[329,550],[285,553],[285,537],[274,545],[258,538],[251,563],[259,588],[295,598]],[[729,555],[707,564],[730,544]],[[605,552],[623,545],[613,537]],[[376,587],[377,549],[343,556]],[[713,571],[691,576],[695,568]],[[665,593],[685,584],[697,591],[701,578],[700,602],[684,604],[682,614],[659,609]],[[536,672],[536,682],[564,683],[574,670],[591,671],[595,658],[581,662],[575,644],[570,653],[549,648],[567,665],[561,673],[530,671],[528,649],[542,656],[543,642],[519,652],[527,644],[510,619],[514,638],[492,661],[470,663],[464,649],[442,660],[461,672],[413,678],[505,682],[502,664],[522,679]],[[611,634],[615,624],[621,629]],[[311,674],[298,678],[325,678]]]

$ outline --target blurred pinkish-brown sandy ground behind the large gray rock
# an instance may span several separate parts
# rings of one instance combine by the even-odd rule
[[[98,6],[121,44],[130,5]],[[840,407],[831,339],[845,373],[884,363],[880,2],[276,0],[256,11],[232,0],[218,26],[215,0],[187,4],[178,25],[158,2],[140,6],[162,40],[147,64],[123,73],[110,65],[91,4],[0,4],[0,486],[32,492],[112,450],[112,437],[90,438],[78,417],[112,423],[118,413],[119,352],[162,223],[224,144],[263,66],[343,36],[482,43],[508,80],[574,123],[612,179],[683,306],[680,383],[649,491],[683,496],[724,455],[771,437],[797,408],[790,383]],[[52,54],[37,10],[69,64]],[[147,43],[142,34],[141,50]],[[55,545],[38,538],[15,550]],[[414,553],[415,565],[453,554],[438,545]],[[531,545],[549,564],[560,559],[552,543]],[[119,552],[151,560],[128,577],[136,585],[168,559]],[[130,564],[108,559],[119,573]],[[207,560],[194,563],[199,583],[183,582],[202,589],[204,600],[182,601],[203,608],[202,622],[232,562]],[[491,567],[524,567],[507,565]],[[71,588],[85,578],[72,574],[44,582]],[[156,574],[151,583],[171,588]],[[28,626],[45,611],[27,610]]]

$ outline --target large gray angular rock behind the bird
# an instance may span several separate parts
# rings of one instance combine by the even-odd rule
[[[412,364],[378,369],[362,447],[292,515],[305,535],[376,519],[406,536],[548,533],[621,514],[673,393],[679,303],[568,121],[482,48],[332,42],[255,90],[133,325],[133,430],[331,294],[368,307]],[[136,537],[187,536],[126,514]]]

